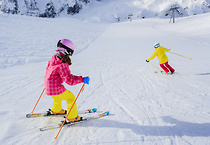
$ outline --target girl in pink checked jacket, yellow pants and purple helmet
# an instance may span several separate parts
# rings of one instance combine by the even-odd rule
[[[79,83],[89,84],[89,77],[75,76],[71,74],[69,65],[71,65],[70,56],[75,50],[74,44],[68,39],[59,40],[57,43],[56,54],[52,56],[48,62],[44,85],[45,93],[53,98],[51,109],[52,114],[68,114],[75,96],[72,92],[63,86],[63,82],[68,85],[76,85]],[[62,101],[67,102],[67,112],[62,109]],[[77,105],[74,104],[69,116],[69,122],[80,121],[82,117],[77,116]]]

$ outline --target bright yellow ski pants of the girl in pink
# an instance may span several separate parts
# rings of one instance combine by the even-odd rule
[[[60,95],[53,95],[51,96],[53,98],[53,106],[52,111],[53,112],[59,112],[62,110],[62,101],[65,100],[67,102],[67,114],[75,100],[75,96],[72,92],[69,90],[66,90]],[[75,103],[69,116],[67,119],[72,119],[77,117],[77,104]]]

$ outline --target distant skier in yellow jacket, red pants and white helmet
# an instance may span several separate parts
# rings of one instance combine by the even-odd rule
[[[165,52],[169,52],[169,49],[166,49],[160,46],[160,43],[156,43],[154,45],[155,51],[150,58],[146,60],[149,62],[150,60],[154,59],[156,56],[158,57],[160,67],[167,73],[174,73],[174,69],[168,64],[168,57],[166,56]]]

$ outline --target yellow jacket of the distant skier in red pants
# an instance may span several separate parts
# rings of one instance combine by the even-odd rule
[[[159,46],[158,48],[155,48],[154,53],[150,58],[147,59],[147,61],[150,61],[157,56],[160,64],[166,63],[168,61],[168,57],[166,56],[165,52],[169,52],[169,50]]]

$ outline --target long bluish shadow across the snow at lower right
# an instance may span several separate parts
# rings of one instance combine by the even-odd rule
[[[94,127],[110,127],[120,129],[131,129],[134,133],[146,136],[190,136],[208,137],[210,136],[210,123],[191,123],[174,119],[170,116],[161,117],[170,126],[141,126],[138,124],[125,123],[113,120],[99,119],[94,122]],[[85,127],[92,126],[86,123]],[[83,126],[84,127],[84,126]]]

